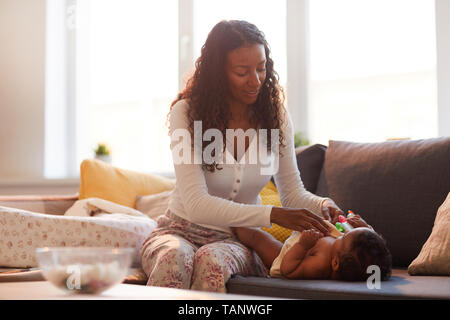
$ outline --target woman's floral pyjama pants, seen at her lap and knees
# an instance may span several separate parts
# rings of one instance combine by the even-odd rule
[[[191,223],[167,210],[140,251],[147,285],[226,292],[233,274],[268,275],[258,255],[232,234]]]

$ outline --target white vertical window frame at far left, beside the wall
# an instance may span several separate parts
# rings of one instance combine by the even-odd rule
[[[55,171],[64,178],[77,176],[76,2],[46,1],[46,123],[43,176],[50,178],[53,178],[50,172]]]

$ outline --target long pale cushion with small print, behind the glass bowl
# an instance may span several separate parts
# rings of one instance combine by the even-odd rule
[[[155,227],[148,217],[73,217],[0,207],[0,266],[37,267],[36,248],[64,246],[135,248],[133,262],[139,265],[138,250]]]

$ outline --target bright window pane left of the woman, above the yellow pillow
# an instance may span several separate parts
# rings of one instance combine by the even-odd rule
[[[177,1],[94,0],[78,6],[77,163],[97,143],[112,164],[173,170],[166,116],[178,93]]]

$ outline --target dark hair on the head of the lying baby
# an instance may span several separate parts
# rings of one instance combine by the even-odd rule
[[[339,256],[339,278],[344,281],[365,281],[371,275],[367,267],[376,265],[380,268],[380,280],[391,276],[392,256],[386,241],[373,231],[355,236],[350,250]]]

